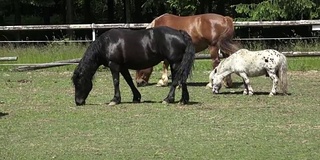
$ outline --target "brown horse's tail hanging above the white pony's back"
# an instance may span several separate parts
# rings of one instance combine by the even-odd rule
[[[234,25],[233,19],[229,16],[224,17],[225,20],[225,30],[221,33],[218,40],[218,47],[224,53],[224,57],[228,57],[232,53],[239,50],[238,44],[233,41],[234,36]]]

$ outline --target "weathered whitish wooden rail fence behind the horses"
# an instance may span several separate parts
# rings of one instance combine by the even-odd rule
[[[132,28],[142,29],[147,27],[149,23],[114,23],[114,24],[64,24],[64,25],[20,25],[20,26],[0,26],[0,31],[23,31],[23,30],[79,30],[91,29],[91,40],[69,40],[69,41],[0,41],[0,43],[42,43],[42,42],[91,42],[96,39],[96,30],[111,29],[111,28]],[[245,21],[234,22],[237,27],[277,27],[277,26],[311,26],[312,31],[320,31],[320,20],[297,20],[297,21]],[[319,37],[286,37],[286,38],[241,38],[236,40],[281,40],[281,39],[318,39]],[[282,52],[288,57],[300,56],[320,56],[320,51],[315,52]],[[209,59],[207,54],[197,54],[197,59]],[[16,60],[16,59],[10,59]],[[9,61],[10,61],[9,60]],[[4,59],[0,59],[4,61]],[[8,61],[5,60],[5,61]],[[10,65],[10,64],[1,64]],[[19,65],[19,64],[17,64]],[[23,64],[22,64],[23,65]]]

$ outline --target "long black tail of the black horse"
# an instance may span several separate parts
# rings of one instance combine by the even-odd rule
[[[192,39],[189,34],[185,31],[180,30],[180,33],[183,35],[184,41],[186,42],[186,49],[183,55],[180,67],[178,68],[176,77],[182,83],[186,83],[189,75],[192,72],[192,67],[195,58],[195,48],[192,43]]]

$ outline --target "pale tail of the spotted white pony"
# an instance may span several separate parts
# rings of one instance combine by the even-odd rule
[[[287,71],[288,71],[287,58],[284,55],[282,55],[282,63],[278,70],[278,76],[280,79],[280,89],[282,90],[284,95],[288,94]]]

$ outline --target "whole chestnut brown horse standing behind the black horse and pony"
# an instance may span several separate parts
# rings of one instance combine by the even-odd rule
[[[219,14],[200,14],[193,16],[176,16],[172,14],[163,14],[155,18],[147,28],[168,26],[174,29],[186,31],[192,38],[196,52],[209,49],[212,66],[218,66],[219,49],[224,53],[224,57],[238,50],[237,45],[232,41],[234,36],[233,19],[228,16]],[[164,61],[163,74],[158,82],[158,86],[166,86],[168,84],[168,66],[169,63]],[[136,83],[138,86],[148,84],[152,68],[138,70],[136,72]],[[230,87],[232,85],[231,77],[227,77],[225,85]],[[211,87],[209,82],[207,85]]]

